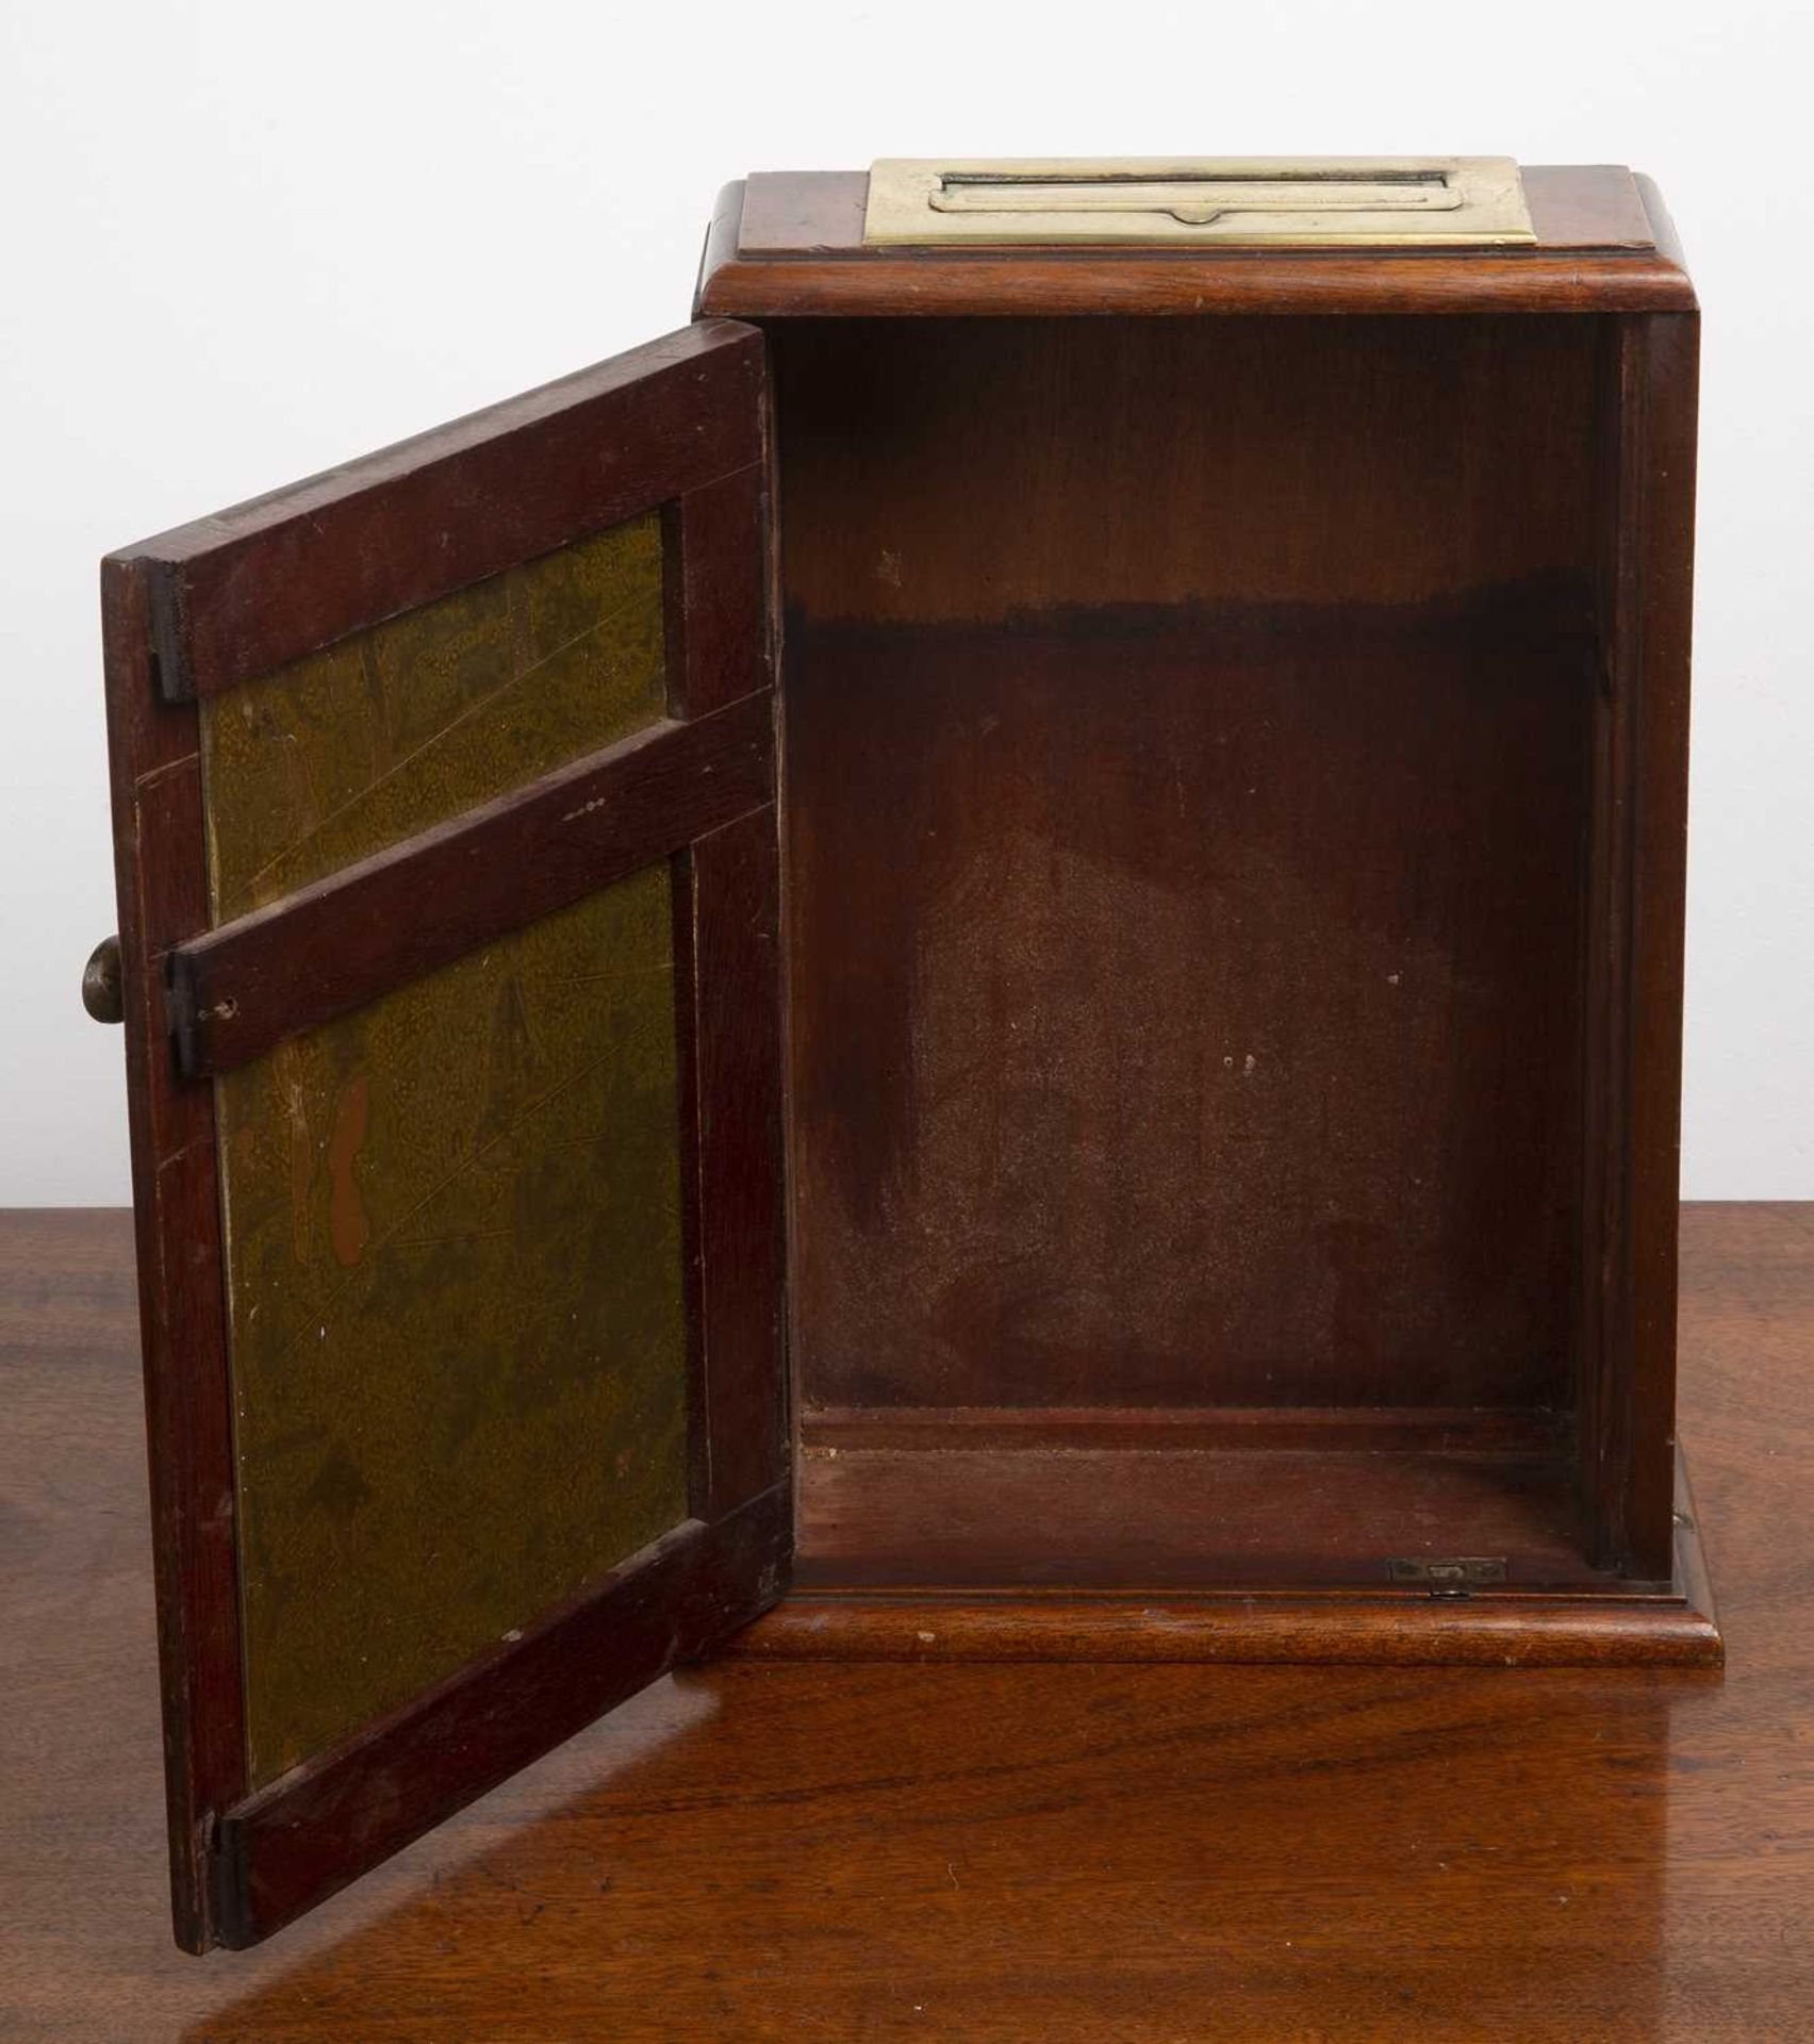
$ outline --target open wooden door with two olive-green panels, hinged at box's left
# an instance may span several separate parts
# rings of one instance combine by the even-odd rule
[[[104,564],[178,1942],[791,1555],[762,337]]]

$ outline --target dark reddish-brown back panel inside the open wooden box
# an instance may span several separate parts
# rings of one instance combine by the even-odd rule
[[[772,339],[807,1441],[1565,1408],[1593,323]]]

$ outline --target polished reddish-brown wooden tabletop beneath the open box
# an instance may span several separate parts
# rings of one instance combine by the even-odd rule
[[[127,1218],[0,1216],[0,2036],[1814,2038],[1814,1206],[1681,1378],[1724,1678],[725,1664],[190,1960]]]

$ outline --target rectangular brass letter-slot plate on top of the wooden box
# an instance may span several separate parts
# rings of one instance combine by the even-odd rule
[[[872,247],[1508,247],[1536,241],[1510,155],[887,157]]]

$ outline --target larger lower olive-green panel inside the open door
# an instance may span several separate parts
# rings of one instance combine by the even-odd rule
[[[688,1515],[672,893],[219,1081],[255,1788]]]

